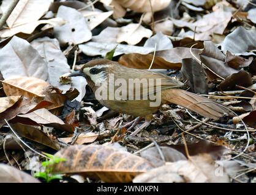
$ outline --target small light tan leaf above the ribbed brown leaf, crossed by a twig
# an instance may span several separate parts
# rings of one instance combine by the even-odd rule
[[[75,141],[75,144],[81,145],[85,143],[92,143],[97,139],[98,136],[99,133],[81,133]],[[72,138],[59,138],[59,140],[63,141],[64,143],[70,143],[72,141]]]

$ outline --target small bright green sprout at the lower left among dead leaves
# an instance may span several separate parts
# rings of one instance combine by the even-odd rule
[[[56,157],[55,155],[51,155],[51,154],[45,154],[45,155],[47,155],[47,157],[50,158],[50,160],[47,159],[41,163],[45,171],[36,172],[34,174],[34,177],[42,178],[47,183],[51,182],[51,180],[54,180],[54,179],[59,179],[59,180],[62,179],[62,174],[53,173],[53,165],[58,164],[61,161],[66,161],[66,159]]]

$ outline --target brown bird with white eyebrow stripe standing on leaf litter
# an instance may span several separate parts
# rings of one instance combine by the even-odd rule
[[[96,99],[100,104],[118,113],[150,119],[152,114],[156,113],[163,104],[180,105],[211,119],[219,119],[228,113],[227,108],[217,102],[179,89],[184,85],[182,82],[162,73],[146,69],[128,68],[118,62],[107,59],[94,59],[80,65],[80,67],[79,71],[74,71],[68,77],[85,77],[89,87],[95,94],[99,94],[99,89],[107,91],[105,98],[98,95]],[[126,83],[121,88],[122,93],[116,93],[120,85],[113,86],[113,82],[110,82],[111,77],[114,82],[121,80],[121,83]],[[135,93],[136,88],[134,85],[136,82],[130,84],[129,82],[130,80],[136,81],[136,79],[137,81],[143,80],[148,83],[150,81],[152,83],[152,80],[159,80],[160,82],[154,82],[151,87],[149,87],[149,84],[148,86],[137,85],[137,90],[140,90],[140,92]],[[146,90],[147,88],[148,91]],[[141,92],[143,90],[146,91],[146,94]],[[120,92],[120,89],[118,92]],[[135,93],[134,99],[129,98],[130,93]],[[160,103],[152,106],[152,103],[156,103],[154,102],[156,99],[149,98],[150,96],[156,96],[156,94],[160,96]]]

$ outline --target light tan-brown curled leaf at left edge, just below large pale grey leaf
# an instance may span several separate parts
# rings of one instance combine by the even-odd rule
[[[2,81],[7,96],[43,97],[50,84],[35,77],[15,77]]]

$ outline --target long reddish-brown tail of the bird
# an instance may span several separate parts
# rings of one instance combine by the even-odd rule
[[[229,110],[217,102],[208,98],[198,96],[189,91],[170,89],[162,91],[162,100],[164,104],[172,103],[188,108],[202,116],[212,119],[219,119]]]

